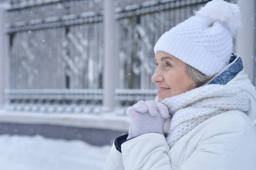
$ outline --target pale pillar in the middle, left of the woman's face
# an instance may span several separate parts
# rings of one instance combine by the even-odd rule
[[[113,0],[104,0],[104,72],[103,72],[103,109],[107,112],[115,108],[117,86],[117,43],[116,20]]]

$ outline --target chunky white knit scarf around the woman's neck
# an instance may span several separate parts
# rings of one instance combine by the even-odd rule
[[[207,119],[228,110],[246,112],[249,108],[247,95],[240,89],[223,85],[206,85],[162,101],[172,115],[166,141],[169,147]]]

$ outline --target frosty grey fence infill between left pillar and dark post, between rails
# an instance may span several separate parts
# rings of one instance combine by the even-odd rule
[[[64,89],[63,29],[20,32],[12,39],[11,89]],[[59,43],[56,43],[59,42]]]

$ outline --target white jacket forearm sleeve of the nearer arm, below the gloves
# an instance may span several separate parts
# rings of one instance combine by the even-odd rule
[[[125,170],[172,170],[170,148],[160,133],[146,133],[122,144]]]

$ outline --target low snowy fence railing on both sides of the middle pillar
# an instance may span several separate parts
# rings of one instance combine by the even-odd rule
[[[117,89],[117,114],[125,114],[126,107],[140,100],[156,97],[156,90]],[[19,112],[87,112],[101,113],[103,91],[101,89],[52,89],[11,90],[6,92],[7,110]]]

